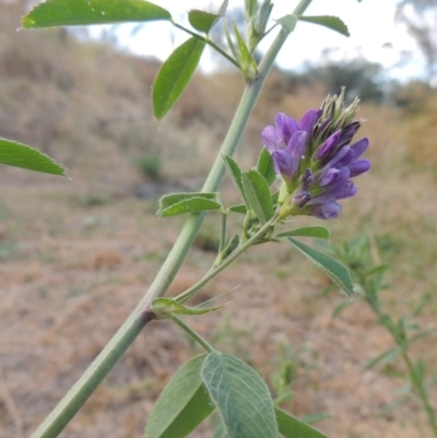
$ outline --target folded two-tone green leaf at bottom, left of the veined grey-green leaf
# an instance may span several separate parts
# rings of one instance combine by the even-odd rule
[[[184,438],[214,411],[200,377],[205,357],[192,358],[173,376],[153,406],[144,438]]]

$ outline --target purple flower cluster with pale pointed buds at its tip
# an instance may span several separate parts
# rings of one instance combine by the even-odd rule
[[[336,201],[357,191],[350,178],[370,168],[369,161],[359,158],[368,147],[368,139],[351,145],[361,126],[352,121],[358,102],[343,108],[343,98],[344,91],[339,97],[329,96],[321,109],[310,109],[299,122],[280,113],[275,127],[262,131],[275,171],[284,181],[279,198],[281,217],[336,217],[341,211]]]

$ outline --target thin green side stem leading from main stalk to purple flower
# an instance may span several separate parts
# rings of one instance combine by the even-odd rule
[[[221,273],[225,268],[227,268],[234,260],[236,260],[241,253],[246,252],[251,246],[257,244],[265,234],[270,230],[270,228],[277,222],[277,216],[273,216],[270,221],[268,221],[250,239],[246,240],[243,245],[236,248],[229,256],[226,257],[222,261],[221,264],[208,271],[206,274],[193,286],[189,289],[185,291],[180,295],[178,295],[175,299],[178,303],[187,303],[190,298],[198,294],[198,292],[209,283],[215,275]]]

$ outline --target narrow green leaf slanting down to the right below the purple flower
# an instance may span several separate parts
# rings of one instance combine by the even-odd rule
[[[287,240],[311,260],[312,263],[320,268],[346,294],[352,294],[354,292],[351,274],[344,264],[340,263],[331,256],[320,252],[293,237],[288,237]]]

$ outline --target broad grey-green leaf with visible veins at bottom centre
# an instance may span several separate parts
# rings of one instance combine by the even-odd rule
[[[276,438],[269,389],[252,368],[235,356],[210,353],[202,379],[229,438]]]

